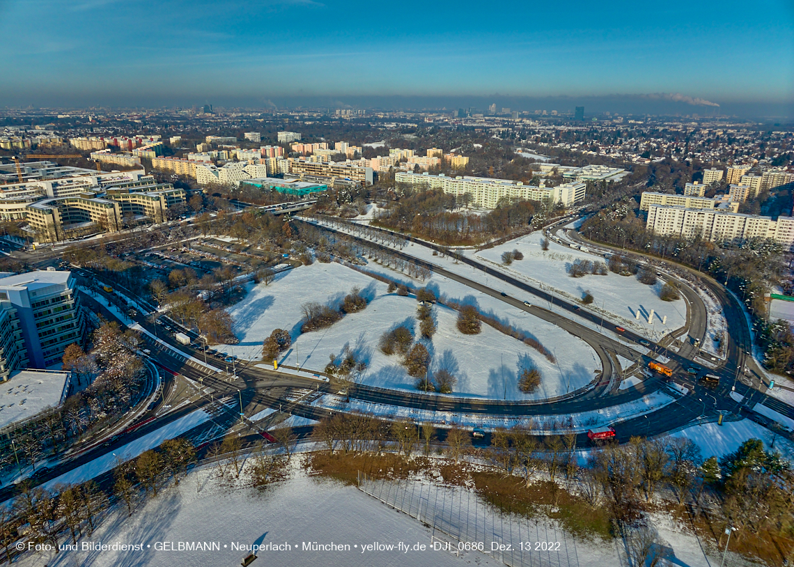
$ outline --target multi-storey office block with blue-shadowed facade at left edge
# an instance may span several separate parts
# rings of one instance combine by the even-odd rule
[[[17,351],[17,368],[47,368],[60,362],[64,349],[73,342],[82,342],[86,333],[83,311],[71,272],[36,271],[0,279],[0,302],[10,303],[16,311],[18,328],[13,319],[8,332],[14,340],[18,334],[24,341],[27,364]],[[2,344],[0,316],[0,344]],[[6,358],[5,353],[0,357]],[[6,361],[9,361],[6,358]]]

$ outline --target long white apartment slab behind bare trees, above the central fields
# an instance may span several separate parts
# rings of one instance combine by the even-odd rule
[[[571,206],[584,199],[585,183],[563,183],[558,187],[534,187],[512,179],[491,179],[488,177],[429,175],[427,173],[399,172],[395,175],[397,183],[412,187],[441,189],[449,195],[463,197],[468,195],[472,205],[493,209],[500,199],[524,199],[528,201],[559,202]]]

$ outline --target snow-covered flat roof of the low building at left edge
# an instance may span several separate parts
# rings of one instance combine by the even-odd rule
[[[9,380],[0,383],[0,427],[57,406],[68,376],[67,372],[35,369],[11,372]]]

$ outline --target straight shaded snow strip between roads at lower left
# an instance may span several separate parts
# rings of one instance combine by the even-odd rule
[[[72,469],[68,473],[56,476],[56,478],[48,481],[42,486],[44,488],[53,488],[58,484],[79,484],[86,480],[90,480],[113,469],[118,465],[119,460],[129,461],[129,459],[134,459],[141,453],[148,451],[148,449],[159,446],[160,443],[164,442],[166,439],[179,437],[179,435],[193,429],[195,426],[201,425],[208,419],[210,419],[210,415],[205,411],[193,411],[166,426],[160,427],[160,429],[156,431],[152,431],[152,433],[145,434],[143,437],[129,442],[125,446],[119,447],[113,453],[102,455],[102,457],[98,457],[94,459],[94,461],[81,465],[76,469]]]

